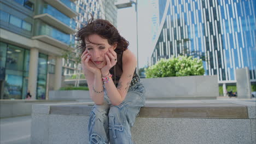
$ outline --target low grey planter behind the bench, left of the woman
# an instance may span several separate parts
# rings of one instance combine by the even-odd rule
[[[50,91],[49,100],[87,100],[91,101],[89,91],[70,90],[70,91]]]

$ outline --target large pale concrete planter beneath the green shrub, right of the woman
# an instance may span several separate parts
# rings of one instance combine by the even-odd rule
[[[141,82],[148,100],[216,99],[219,95],[217,75],[160,77]]]

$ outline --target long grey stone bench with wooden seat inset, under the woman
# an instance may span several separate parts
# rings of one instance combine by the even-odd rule
[[[92,103],[33,105],[31,143],[89,143],[91,108]],[[255,101],[147,101],[132,139],[138,144],[256,143],[255,109]]]

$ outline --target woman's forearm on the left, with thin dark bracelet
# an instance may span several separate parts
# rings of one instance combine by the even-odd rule
[[[101,73],[94,75],[94,84],[90,91],[91,99],[96,105],[102,105],[104,103],[104,91],[103,83],[101,80]]]

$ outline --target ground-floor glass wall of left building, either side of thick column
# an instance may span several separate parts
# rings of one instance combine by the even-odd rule
[[[2,42],[0,44],[0,80],[4,80],[4,92],[1,99],[26,99],[26,94],[29,90],[30,50]],[[37,99],[45,99],[47,61],[48,56],[39,53]]]

